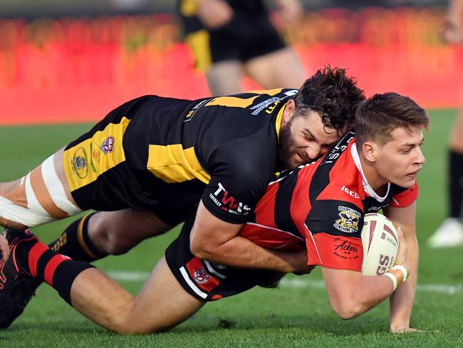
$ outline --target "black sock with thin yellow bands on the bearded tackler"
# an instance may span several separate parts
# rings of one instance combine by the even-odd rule
[[[100,260],[107,255],[101,254],[88,237],[88,220],[95,213],[85,215],[69,225],[57,240],[51,242],[51,247],[60,254],[71,257],[73,260],[92,262]]]

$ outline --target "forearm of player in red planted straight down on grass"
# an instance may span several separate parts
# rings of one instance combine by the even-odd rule
[[[392,331],[402,327],[410,327],[410,317],[417,285],[418,242],[415,234],[405,237],[405,240],[408,245],[410,277],[407,278],[407,282],[397,287],[397,290],[390,297],[390,329]]]

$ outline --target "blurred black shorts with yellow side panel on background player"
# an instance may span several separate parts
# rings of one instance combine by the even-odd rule
[[[204,71],[212,63],[229,60],[246,62],[286,47],[266,15],[240,13],[219,29],[187,34],[185,41],[192,48],[196,67]]]

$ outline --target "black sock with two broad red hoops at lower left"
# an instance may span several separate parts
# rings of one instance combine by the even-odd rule
[[[19,242],[14,257],[23,270],[53,287],[69,305],[72,305],[71,286],[74,280],[80,272],[93,267],[87,262],[74,261],[54,252],[35,238]]]

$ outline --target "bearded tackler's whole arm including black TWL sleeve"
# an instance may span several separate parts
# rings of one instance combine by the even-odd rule
[[[259,136],[231,141],[214,151],[214,170],[192,227],[192,254],[232,267],[309,272],[306,254],[266,250],[238,235],[264,195],[274,152]],[[238,155],[240,154],[240,155]]]

